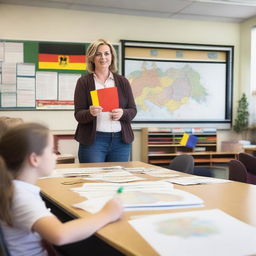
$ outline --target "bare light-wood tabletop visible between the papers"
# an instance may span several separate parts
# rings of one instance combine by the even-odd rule
[[[128,163],[97,163],[97,164],[65,164],[58,165],[59,168],[73,167],[93,167],[93,166],[113,166],[121,165],[125,167],[150,166],[142,162]],[[154,166],[155,167],[155,166]],[[145,175],[145,174],[141,174]],[[187,174],[185,174],[187,175]],[[149,177],[145,175],[144,177]],[[89,213],[73,208],[71,205],[84,201],[85,199],[78,194],[69,190],[70,187],[79,187],[76,185],[62,185],[65,179],[79,178],[52,178],[42,179],[38,181],[38,185],[42,189],[43,195],[54,202],[61,209],[74,217],[86,217]],[[149,178],[159,180],[159,178]],[[192,210],[214,209],[219,208],[232,215],[233,217],[244,221],[248,224],[256,226],[256,186],[240,182],[230,182],[222,184],[193,185],[181,186],[174,185],[175,188],[191,192],[201,197],[205,206],[201,208],[173,209],[173,210],[156,210],[156,211],[134,211],[125,212],[124,216],[118,222],[109,224],[96,232],[96,236],[107,244],[111,245],[125,255],[136,256],[155,256],[158,255],[155,250],[128,224],[128,220],[132,216],[156,214],[156,213],[173,213]]]

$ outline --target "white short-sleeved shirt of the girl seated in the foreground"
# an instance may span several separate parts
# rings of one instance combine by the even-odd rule
[[[1,222],[7,247],[13,256],[46,256],[42,238],[31,229],[38,219],[52,213],[40,197],[39,187],[19,180],[14,180],[13,185],[13,227]]]

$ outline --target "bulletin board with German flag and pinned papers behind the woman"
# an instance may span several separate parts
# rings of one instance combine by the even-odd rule
[[[0,110],[73,110],[89,45],[0,40]],[[119,44],[113,46],[119,59]]]

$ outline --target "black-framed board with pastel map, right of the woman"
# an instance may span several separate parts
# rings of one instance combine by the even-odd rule
[[[229,45],[122,40],[134,123],[205,123],[230,127],[233,52]]]

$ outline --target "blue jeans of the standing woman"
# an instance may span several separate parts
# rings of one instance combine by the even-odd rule
[[[131,144],[122,141],[121,132],[96,132],[92,145],[79,144],[78,158],[80,163],[127,162],[130,151]]]

